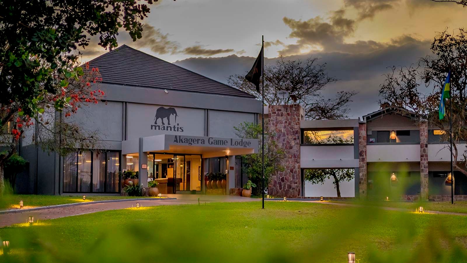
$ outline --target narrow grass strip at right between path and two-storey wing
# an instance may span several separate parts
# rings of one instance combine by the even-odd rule
[[[334,201],[334,203],[398,207],[415,211],[417,207],[423,206],[425,210],[440,212],[458,212],[467,213],[467,201],[454,202],[399,202],[399,201]]]

